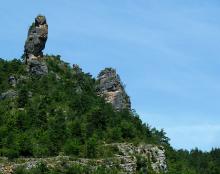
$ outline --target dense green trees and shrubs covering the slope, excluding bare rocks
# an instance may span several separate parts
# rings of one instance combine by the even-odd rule
[[[220,173],[219,149],[209,153],[174,150],[163,130],[143,124],[135,111],[116,112],[97,96],[96,80],[90,74],[74,71],[60,56],[45,59],[49,74],[42,77],[30,76],[21,60],[0,59],[0,93],[17,92],[15,98],[0,100],[0,156],[98,158],[103,156],[103,143],[145,142],[166,148],[170,174]],[[11,75],[17,79],[15,87],[8,83]],[[66,173],[86,171],[73,168]],[[105,173],[107,169],[98,170]]]

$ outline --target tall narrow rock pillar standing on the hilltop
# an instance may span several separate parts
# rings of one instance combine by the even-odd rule
[[[43,75],[48,72],[43,62],[43,49],[48,36],[48,25],[45,16],[37,16],[29,28],[28,37],[24,46],[25,63],[31,74]]]

